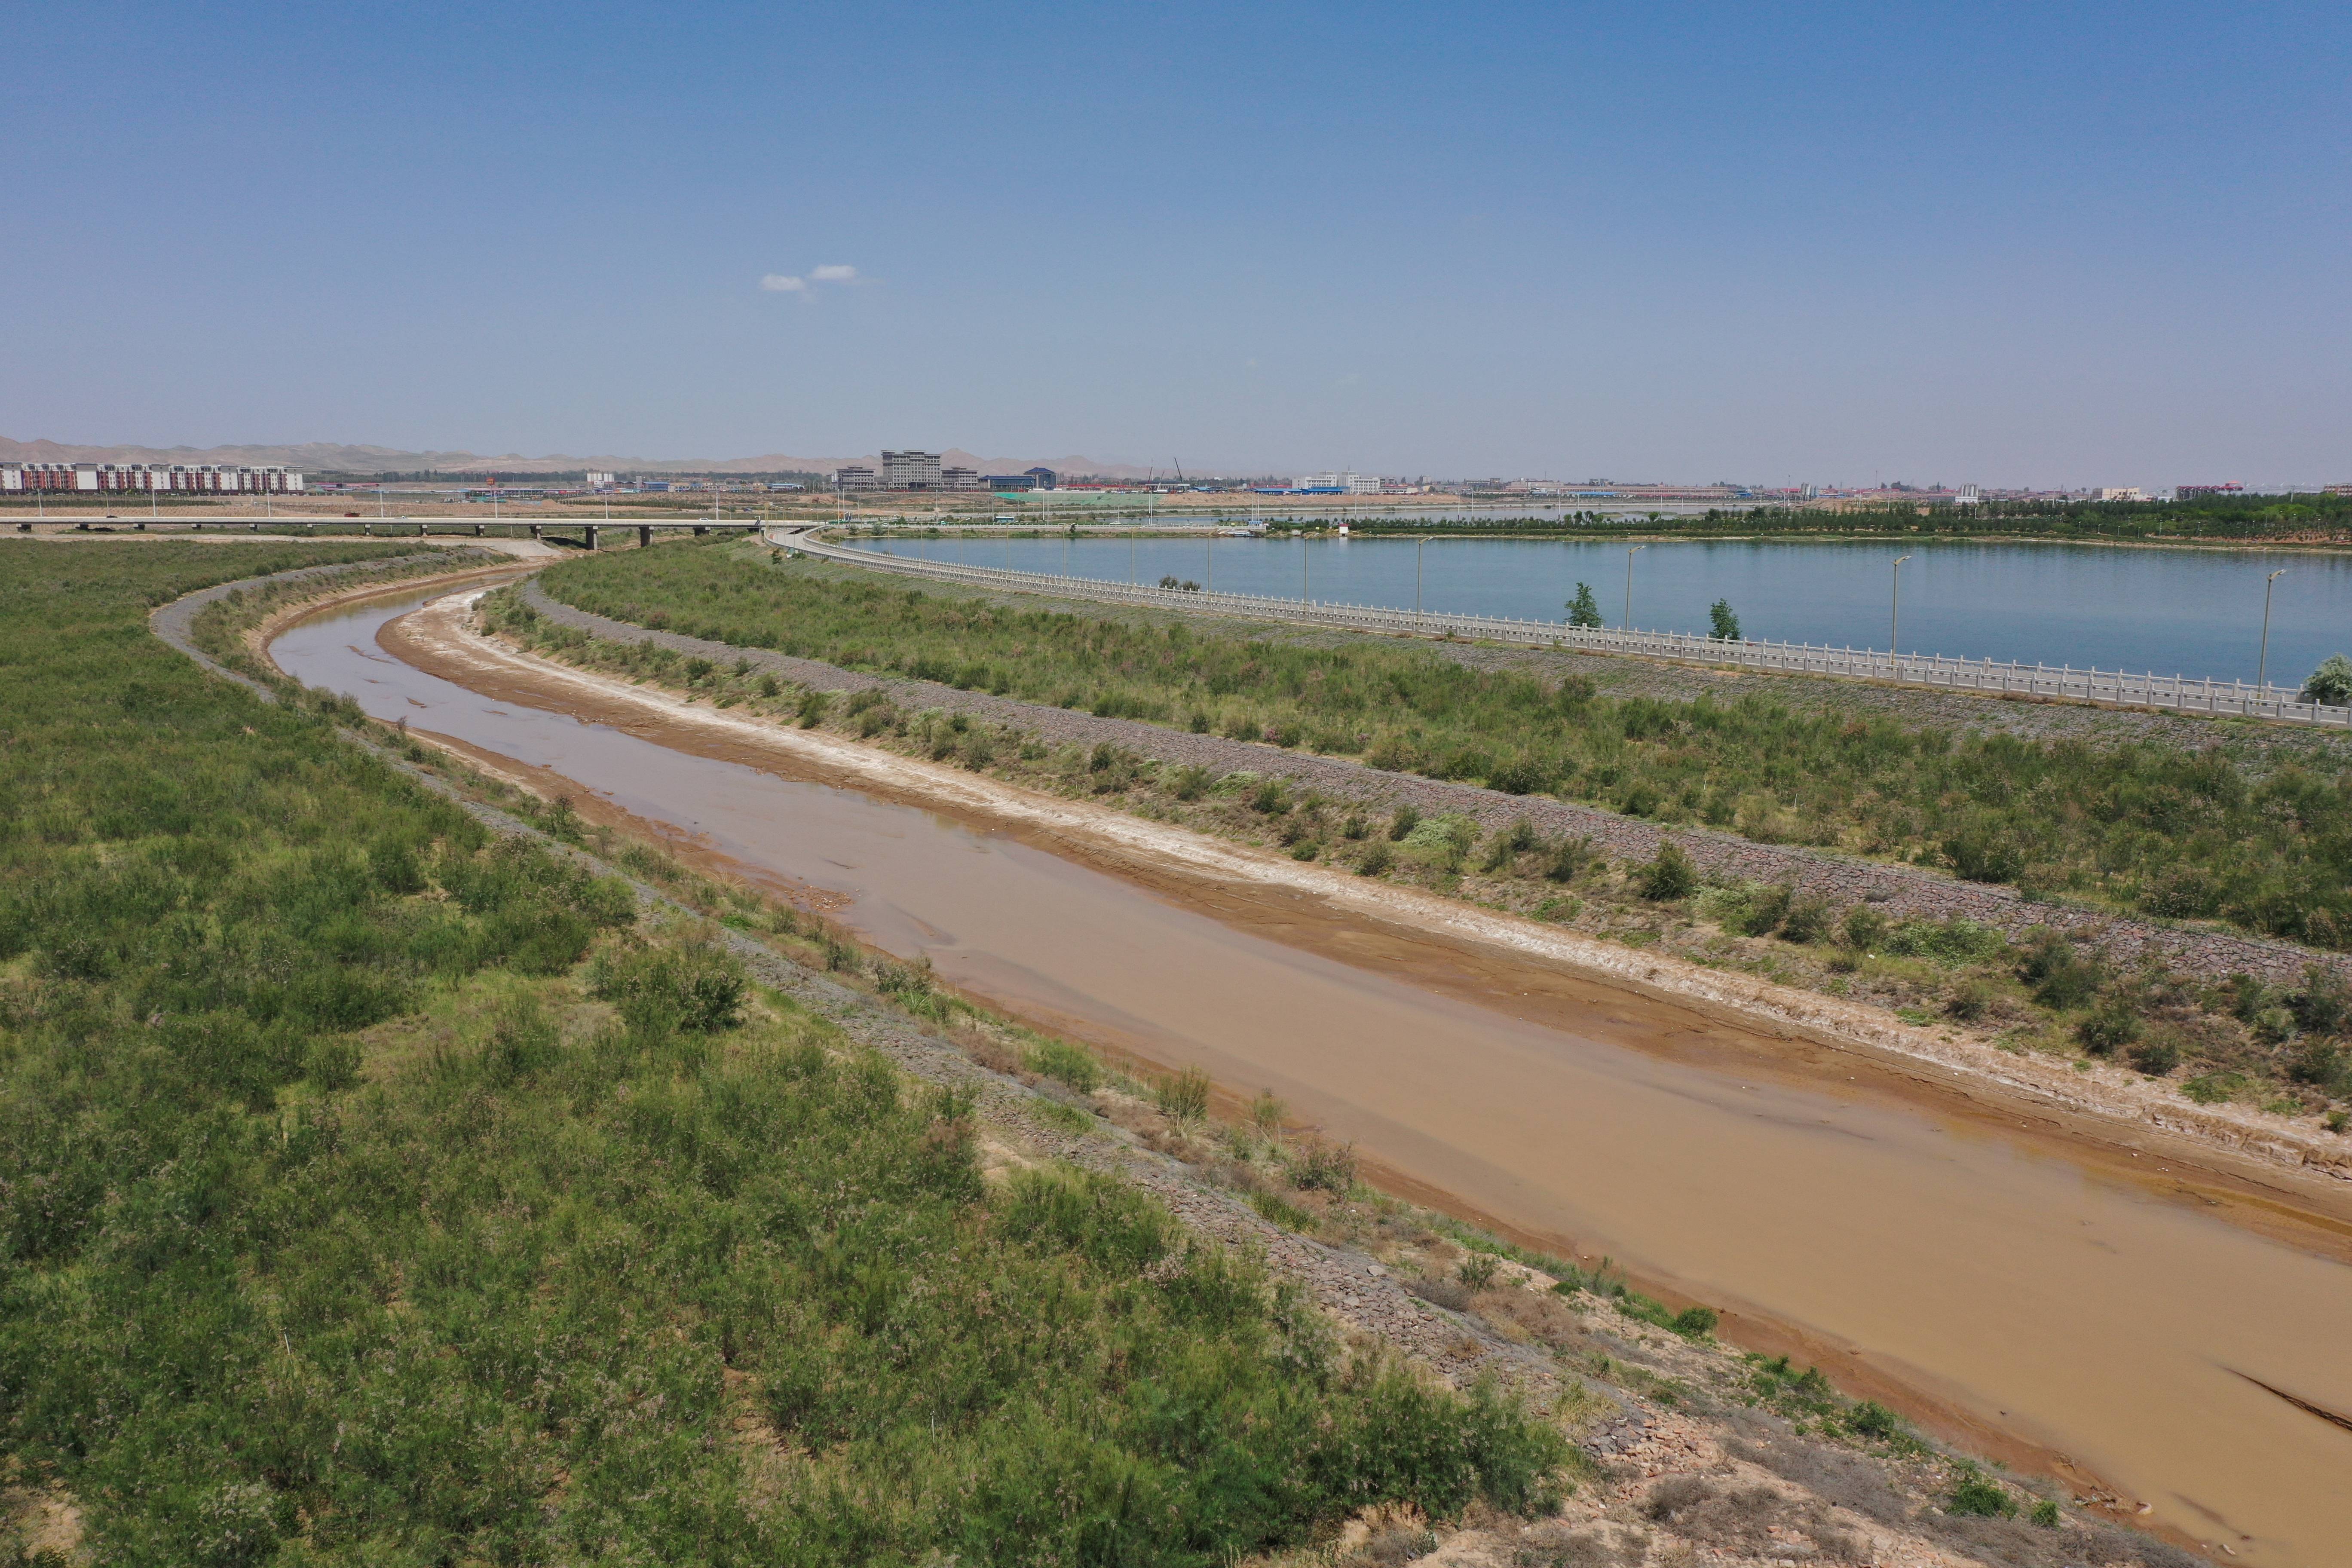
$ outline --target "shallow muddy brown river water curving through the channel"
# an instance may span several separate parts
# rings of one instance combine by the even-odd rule
[[[2352,1267],[2218,1218],[2232,1199],[2145,1168],[2154,1145],[2145,1164],[2077,1161],[1987,1117],[1771,1072],[1769,1041],[1637,997],[1345,929],[1298,896],[1148,891],[722,743],[680,750],[659,719],[477,696],[379,646],[402,609],[301,623],[275,658],[755,877],[837,893],[849,926],[974,994],[1270,1088],[1524,1234],[1797,1326],[1839,1380],[1893,1378],[2072,1455],[2239,1561],[2343,1561],[2352,1432],[2246,1378],[2352,1408]]]

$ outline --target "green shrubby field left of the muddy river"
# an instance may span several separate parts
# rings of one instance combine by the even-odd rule
[[[146,632],[355,555],[0,555],[19,1507],[115,1563],[1211,1563],[1545,1497],[1548,1425],[1124,1185],[983,1182],[969,1105]]]

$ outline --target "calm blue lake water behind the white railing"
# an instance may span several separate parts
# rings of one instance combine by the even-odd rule
[[[1625,621],[1625,545],[1517,538],[880,538],[861,548],[974,567],[1070,571],[1112,583],[1190,578],[1263,592],[1430,611],[1559,621],[1592,583]],[[1748,637],[1884,649],[1903,564],[1905,654],[2018,658],[2103,670],[2253,679],[2263,578],[2277,569],[2270,679],[2298,684],[2352,651],[2352,557],[2298,550],[2145,550],[2037,543],[1653,543],[1632,557],[1632,623],[1705,632],[1729,599]]]

